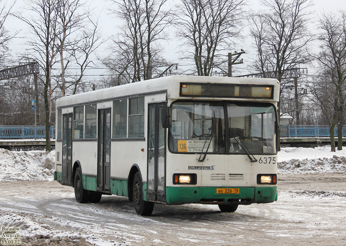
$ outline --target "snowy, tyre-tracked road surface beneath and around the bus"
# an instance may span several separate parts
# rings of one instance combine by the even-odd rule
[[[78,204],[73,188],[56,181],[2,181],[0,225],[26,223],[24,245],[346,245],[346,174],[281,175],[278,190],[277,202],[234,213],[155,205],[141,217],[125,197]]]

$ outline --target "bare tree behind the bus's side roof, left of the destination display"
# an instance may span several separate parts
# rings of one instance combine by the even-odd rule
[[[112,13],[124,21],[117,37],[113,37],[115,56],[102,63],[125,83],[137,82],[160,74],[160,66],[167,64],[160,56],[159,41],[166,39],[171,10],[165,9],[167,0],[112,0]]]

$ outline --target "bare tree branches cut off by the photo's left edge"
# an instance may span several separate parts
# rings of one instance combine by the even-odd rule
[[[0,0],[0,67],[3,67],[3,59],[8,53],[8,42],[15,37],[17,33],[11,33],[5,28],[5,21],[10,15],[11,9],[16,2],[7,5],[6,0]]]

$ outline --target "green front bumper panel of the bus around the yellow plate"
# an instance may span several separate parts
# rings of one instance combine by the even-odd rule
[[[227,187],[239,189],[239,194],[217,194],[225,187],[166,187],[167,204],[252,204],[277,200],[276,187]]]

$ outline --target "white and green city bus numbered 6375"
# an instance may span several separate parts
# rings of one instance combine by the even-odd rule
[[[277,200],[276,79],[174,75],[56,100],[54,180],[76,201],[154,204]]]

